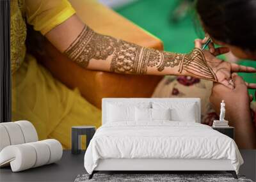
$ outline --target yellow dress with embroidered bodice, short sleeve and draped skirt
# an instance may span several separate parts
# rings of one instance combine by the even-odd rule
[[[65,148],[71,146],[71,126],[99,127],[101,112],[84,100],[79,91],[68,89],[35,57],[26,54],[24,15],[37,30],[46,33],[72,16],[72,12],[66,0],[11,1],[12,120],[31,121],[40,140],[54,138]]]

